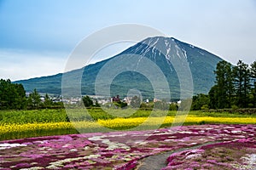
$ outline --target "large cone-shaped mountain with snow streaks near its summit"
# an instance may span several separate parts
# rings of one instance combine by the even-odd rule
[[[143,62],[142,59],[144,59]],[[149,62],[149,60],[152,62]],[[113,80],[110,84],[110,94],[112,96],[119,94],[121,97],[125,97],[127,93],[131,92],[129,91],[130,89],[137,89],[144,97],[154,98],[154,84],[150,82],[150,77],[157,72],[157,68],[154,65],[158,65],[158,68],[166,77],[172,99],[179,99],[182,86],[191,84],[191,82],[194,84],[194,94],[207,94],[214,84],[215,76],[213,71],[221,60],[223,59],[204,49],[180,42],[173,37],[148,37],[110,59],[64,73],[65,77],[68,77],[68,84],[66,84],[65,88],[72,89],[73,82],[81,78],[82,72],[80,86],[82,94],[96,94],[97,76],[102,74],[101,69],[105,68],[108,63],[112,63],[111,67],[106,71],[105,77],[111,75],[114,69],[121,68],[124,70],[119,70],[118,74],[112,77]],[[133,70],[126,68],[130,67],[127,63],[131,65]],[[143,70],[136,70],[138,65],[140,68],[143,67]],[[192,77],[187,81],[191,81],[185,83],[181,78],[189,77],[189,74]],[[16,83],[23,84],[26,91],[32,91],[37,88],[40,93],[61,94],[62,76],[63,74],[60,73],[49,77],[21,80]],[[164,83],[161,81],[156,82],[158,84]],[[166,89],[159,90],[166,91]]]

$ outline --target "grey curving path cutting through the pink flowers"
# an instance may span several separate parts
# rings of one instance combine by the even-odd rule
[[[189,147],[189,148],[182,148],[179,150],[167,151],[167,152],[161,153],[159,155],[155,155],[155,156],[148,156],[148,157],[144,158],[143,160],[139,161],[139,165],[137,166],[136,170],[160,170],[160,169],[166,167],[166,165],[167,165],[166,160],[173,153],[180,152],[183,150],[194,150],[194,149],[200,148],[201,146],[205,146],[207,144],[217,144],[219,142],[220,141],[207,142],[205,144],[195,145],[195,146]]]

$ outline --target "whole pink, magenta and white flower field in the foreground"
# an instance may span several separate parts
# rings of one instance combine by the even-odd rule
[[[164,170],[246,169],[256,167],[255,135],[255,125],[201,125],[6,140],[0,169],[134,169],[166,151]]]

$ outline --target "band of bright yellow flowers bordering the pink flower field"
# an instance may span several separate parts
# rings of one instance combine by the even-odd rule
[[[183,120],[185,119],[185,122]],[[211,116],[174,116],[166,117],[136,117],[136,118],[115,118],[110,120],[98,120],[97,122],[46,122],[26,124],[4,124],[0,126],[0,135],[22,137],[22,134],[29,133],[29,137],[38,135],[50,135],[53,133],[80,133],[102,132],[112,130],[143,130],[154,129],[161,125],[172,126],[173,121],[178,125],[191,124],[256,124],[256,117],[211,117]],[[82,129],[82,130],[81,130]],[[80,131],[81,130],[81,131]],[[14,137],[15,138],[15,137]]]

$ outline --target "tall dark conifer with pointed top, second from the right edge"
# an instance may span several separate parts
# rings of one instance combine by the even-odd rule
[[[247,64],[239,60],[233,72],[235,77],[236,105],[245,108],[249,100],[250,70]]]

